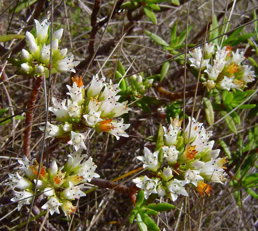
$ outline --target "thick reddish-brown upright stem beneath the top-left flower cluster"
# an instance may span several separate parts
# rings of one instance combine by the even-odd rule
[[[38,91],[42,81],[43,81],[43,76],[39,76],[36,78],[33,89],[30,93],[29,103],[27,105],[26,121],[25,121],[26,129],[24,131],[24,137],[23,137],[23,154],[26,156],[30,152],[30,136],[31,136],[32,120],[33,120],[33,108],[35,106],[35,103],[38,97]]]

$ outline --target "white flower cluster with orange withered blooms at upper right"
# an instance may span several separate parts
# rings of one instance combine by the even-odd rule
[[[245,59],[244,52],[239,53],[238,49],[235,53],[231,52],[230,46],[223,48],[217,46],[215,52],[214,47],[214,43],[205,44],[205,54],[201,65],[202,74],[206,78],[203,84],[207,86],[208,90],[217,87],[221,90],[238,89],[243,91],[246,83],[253,82],[255,77],[251,67],[241,65]],[[200,47],[189,52],[190,66],[197,70],[200,69],[202,53]]]

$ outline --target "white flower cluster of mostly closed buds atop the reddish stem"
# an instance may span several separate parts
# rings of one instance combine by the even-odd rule
[[[21,70],[26,74],[49,75],[49,60],[50,60],[50,35],[48,33],[50,22],[47,19],[41,23],[34,20],[36,24],[36,37],[29,31],[26,32],[25,40],[28,50],[21,51]],[[75,73],[74,67],[79,62],[74,61],[74,56],[66,57],[67,48],[59,50],[58,43],[63,34],[63,29],[59,29],[52,36],[52,67],[51,73],[61,71],[72,71]],[[35,62],[36,61],[36,62]]]

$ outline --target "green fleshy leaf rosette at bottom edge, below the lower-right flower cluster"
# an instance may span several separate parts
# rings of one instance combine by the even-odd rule
[[[162,128],[162,127],[161,127]],[[135,208],[131,211],[129,222],[132,223],[136,217],[140,230],[159,231],[159,227],[148,215],[157,216],[158,212],[170,211],[175,206],[170,203],[151,203],[146,206],[147,200],[144,200],[144,193],[141,189],[138,192],[135,202]]]

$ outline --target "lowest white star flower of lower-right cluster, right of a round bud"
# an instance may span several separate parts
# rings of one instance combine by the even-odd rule
[[[178,198],[178,195],[188,196],[188,193],[183,187],[186,184],[187,184],[187,180],[178,180],[178,179],[173,179],[166,183],[167,189],[171,193],[172,201],[175,201]]]

